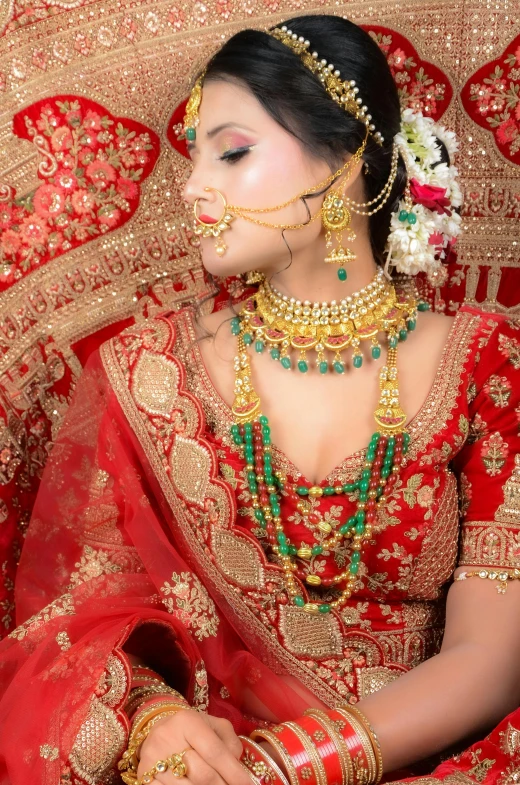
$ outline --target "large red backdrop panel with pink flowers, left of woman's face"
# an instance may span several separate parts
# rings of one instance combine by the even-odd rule
[[[155,134],[83,98],[47,99],[15,115],[17,136],[43,157],[41,185],[0,206],[0,289],[122,226],[158,155]]]

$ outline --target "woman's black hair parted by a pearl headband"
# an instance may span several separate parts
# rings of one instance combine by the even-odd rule
[[[384,137],[379,145],[370,135],[363,154],[369,201],[380,193],[388,179],[393,138],[401,121],[397,88],[386,58],[368,33],[339,16],[299,16],[283,24],[308,39],[309,51],[317,51],[320,58],[333,63],[342,79],[356,81],[372,123]],[[331,171],[336,171],[365,138],[364,123],[336,104],[300,57],[267,33],[243,30],[230,38],[207,67],[205,80],[217,79],[248,87],[271,117],[304,149],[327,161]],[[372,250],[380,264],[384,262],[390,217],[405,186],[406,169],[399,156],[389,198],[369,223]]]

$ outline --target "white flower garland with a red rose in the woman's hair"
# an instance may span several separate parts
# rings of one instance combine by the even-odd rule
[[[458,146],[455,134],[430,117],[404,110],[394,141],[406,164],[408,186],[392,214],[386,246],[387,268],[406,275],[424,272],[432,286],[446,279],[442,260],[460,233],[461,218],[454,208],[462,204],[457,169],[441,161],[438,140],[451,160]]]

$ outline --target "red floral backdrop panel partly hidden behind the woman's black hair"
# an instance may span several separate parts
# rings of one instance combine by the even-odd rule
[[[413,109],[438,120],[448,108],[453,90],[448,77],[433,63],[421,60],[403,35],[375,25],[364,29],[385,55],[403,109]]]

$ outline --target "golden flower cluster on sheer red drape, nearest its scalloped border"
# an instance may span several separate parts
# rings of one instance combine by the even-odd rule
[[[161,586],[163,604],[184,626],[201,641],[216,636],[219,618],[215,605],[204,586],[191,572],[174,572],[173,584],[167,581]]]

